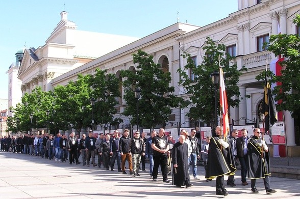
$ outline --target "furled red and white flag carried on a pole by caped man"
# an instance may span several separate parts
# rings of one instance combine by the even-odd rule
[[[223,118],[224,137],[226,137],[229,132],[228,103],[227,103],[227,94],[225,90],[225,83],[223,77],[223,70],[221,67],[220,67],[220,111]]]

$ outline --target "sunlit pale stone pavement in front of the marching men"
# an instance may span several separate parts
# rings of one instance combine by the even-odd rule
[[[146,168],[148,168],[146,164]],[[203,166],[198,166],[201,180],[191,180],[193,187],[176,188],[171,183],[149,178],[148,172],[140,177],[123,175],[116,170],[70,165],[68,162],[0,152],[0,198],[222,198],[215,195],[215,181],[206,182]],[[300,196],[300,181],[271,177],[271,186],[277,193],[266,194],[263,181],[257,180],[259,194],[240,184],[240,171],[236,187],[227,187],[226,198],[296,198]],[[226,177],[227,178],[227,177]],[[171,180],[171,177],[170,179]]]

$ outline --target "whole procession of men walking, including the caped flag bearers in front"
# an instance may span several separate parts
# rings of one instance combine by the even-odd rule
[[[224,175],[228,175],[227,185],[235,187],[234,174],[236,165],[241,166],[241,185],[247,186],[246,176],[251,179],[251,190],[258,193],[256,179],[263,178],[267,194],[276,190],[270,188],[270,164],[268,146],[261,137],[259,128],[254,129],[254,135],[249,137],[247,130],[241,130],[241,137],[237,138],[238,130],[234,129],[229,137],[224,137],[220,126],[217,126],[212,137],[206,137],[201,146],[196,138],[196,130],[191,129],[190,134],[182,129],[177,139],[172,135],[165,136],[165,130],[152,131],[146,138],[146,133],[136,131],[133,137],[130,130],[125,129],[122,136],[115,130],[94,137],[92,131],[88,136],[75,135],[71,132],[69,137],[57,133],[44,135],[24,134],[19,137],[8,136],[1,138],[1,150],[21,154],[40,156],[49,160],[76,163],[83,165],[101,165],[107,170],[114,171],[117,162],[117,171],[127,174],[125,164],[128,161],[129,174],[140,176],[140,169],[145,171],[146,158],[149,159],[149,175],[158,181],[159,167],[163,182],[169,183],[168,177],[172,175],[172,185],[176,187],[193,186],[190,181],[189,167],[192,167],[194,180],[197,176],[197,160],[202,155],[206,170],[207,182],[216,178],[216,194],[228,195],[224,188]],[[95,162],[97,156],[97,162]],[[141,164],[141,165],[140,165]]]

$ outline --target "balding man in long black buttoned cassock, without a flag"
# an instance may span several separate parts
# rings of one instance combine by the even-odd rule
[[[172,185],[185,188],[193,186],[190,182],[188,172],[188,145],[184,142],[185,136],[180,135],[179,141],[173,145],[172,162],[173,162],[173,180]]]

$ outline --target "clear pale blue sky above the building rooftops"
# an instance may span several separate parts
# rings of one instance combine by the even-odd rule
[[[8,98],[15,53],[38,48],[62,11],[81,31],[143,38],[177,22],[205,26],[236,12],[238,0],[9,0],[0,1],[0,98]]]

